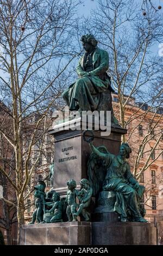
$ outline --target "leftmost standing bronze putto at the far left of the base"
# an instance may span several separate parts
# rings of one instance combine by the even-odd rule
[[[33,212],[32,222],[28,224],[41,223],[43,221],[43,205],[45,203],[46,193],[45,193],[46,184],[44,181],[40,181],[38,185],[34,187],[36,197],[35,206],[36,209]]]

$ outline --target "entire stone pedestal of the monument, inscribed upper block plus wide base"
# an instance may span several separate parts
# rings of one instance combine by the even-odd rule
[[[74,125],[74,122],[75,125]],[[71,129],[70,129],[71,124]],[[95,123],[94,123],[95,124]],[[67,126],[67,130],[65,129]],[[56,192],[64,198],[66,182],[73,178],[77,184],[87,177],[87,161],[91,154],[89,144],[83,139],[81,118],[60,123],[49,131],[55,139],[54,184]],[[75,129],[77,128],[77,129]],[[109,152],[118,154],[121,135],[127,130],[111,127],[109,136],[101,136],[93,129],[93,145],[104,145]],[[77,189],[79,189],[79,185]],[[120,222],[114,212],[115,192],[102,191],[98,206],[92,202],[92,222],[63,222],[23,225],[20,230],[21,245],[156,245],[156,228],[151,223]]]

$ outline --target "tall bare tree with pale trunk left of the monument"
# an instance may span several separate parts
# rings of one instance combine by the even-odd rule
[[[48,113],[57,108],[71,72],[68,66],[78,55],[72,45],[78,4],[73,0],[0,1],[1,100],[10,109],[4,109],[8,117],[3,117],[0,132],[14,151],[15,180],[2,165],[0,170],[16,191],[18,243],[20,227],[24,224],[23,195],[40,158],[48,129]],[[61,75],[65,78],[62,84]],[[38,118],[30,134],[28,150],[23,154],[24,126],[34,114]],[[9,117],[10,133],[3,125]],[[40,152],[29,168],[30,155],[39,139]]]

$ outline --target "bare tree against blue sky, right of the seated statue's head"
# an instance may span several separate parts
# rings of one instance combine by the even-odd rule
[[[109,72],[120,102],[120,123],[125,128],[125,106],[131,97],[149,100],[148,88],[161,75],[162,59],[152,55],[151,47],[162,39],[162,17],[149,10],[142,17],[134,1],[98,1],[88,20],[89,31],[109,52]],[[128,97],[124,100],[124,95]],[[123,138],[125,141],[125,138]]]

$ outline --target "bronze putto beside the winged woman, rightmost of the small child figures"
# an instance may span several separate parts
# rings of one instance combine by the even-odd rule
[[[90,187],[90,182],[86,178],[80,181],[80,186],[81,190],[78,192],[80,205],[77,213],[74,213],[74,215],[79,216],[82,213],[84,221],[90,221],[90,213],[87,211],[87,208],[90,206],[93,190]]]

